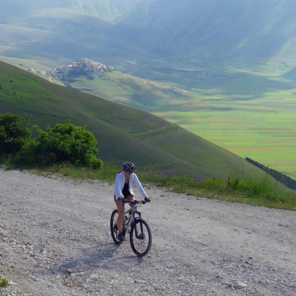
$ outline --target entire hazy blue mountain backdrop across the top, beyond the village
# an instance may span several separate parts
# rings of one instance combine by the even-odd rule
[[[127,59],[145,65],[187,55],[205,70],[272,61],[280,72],[296,63],[292,0],[0,0],[0,7],[0,45],[10,48],[0,55],[11,59],[25,50],[52,54],[52,62],[88,57],[124,68],[132,67]]]

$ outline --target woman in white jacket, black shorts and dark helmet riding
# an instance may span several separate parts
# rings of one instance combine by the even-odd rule
[[[139,181],[138,176],[135,174],[136,168],[135,165],[129,161],[123,163],[123,169],[120,171],[115,178],[115,188],[114,188],[114,200],[118,210],[118,218],[117,218],[117,227],[118,227],[118,239],[123,242],[124,236],[122,233],[122,223],[123,223],[123,215],[124,208],[122,198],[126,198],[127,200],[135,200],[135,194],[133,193],[132,185],[136,184],[139,189],[141,195],[145,198],[147,202],[150,200],[147,197],[147,193],[145,192],[141,182]]]

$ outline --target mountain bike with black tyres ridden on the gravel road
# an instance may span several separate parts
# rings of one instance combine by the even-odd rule
[[[131,248],[137,256],[145,256],[149,253],[152,245],[152,233],[148,223],[141,218],[141,213],[138,211],[138,207],[146,204],[145,200],[131,201],[123,199],[124,204],[131,206],[127,211],[124,212],[123,216],[123,236],[129,232],[129,239]],[[115,244],[120,244],[121,241],[118,239],[118,227],[117,227],[118,210],[114,210],[111,214],[110,219],[110,230],[111,236]]]

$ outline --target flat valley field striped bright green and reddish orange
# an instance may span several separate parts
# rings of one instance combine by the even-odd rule
[[[190,111],[154,114],[237,155],[296,178],[296,100],[291,98],[292,91],[290,96],[283,91],[251,100],[192,95],[176,106],[182,110],[182,105],[190,105]]]

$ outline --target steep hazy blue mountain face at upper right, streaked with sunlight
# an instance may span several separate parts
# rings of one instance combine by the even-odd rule
[[[142,41],[146,38],[142,33],[149,28],[148,33],[155,30],[163,37],[176,38],[176,43],[183,45],[182,53],[252,63],[254,59],[267,62],[294,54],[295,11],[292,0],[163,0],[141,2],[118,22],[141,28],[139,35],[132,36]],[[156,47],[159,40],[155,40]],[[168,43],[165,49],[173,51],[174,45]]]

